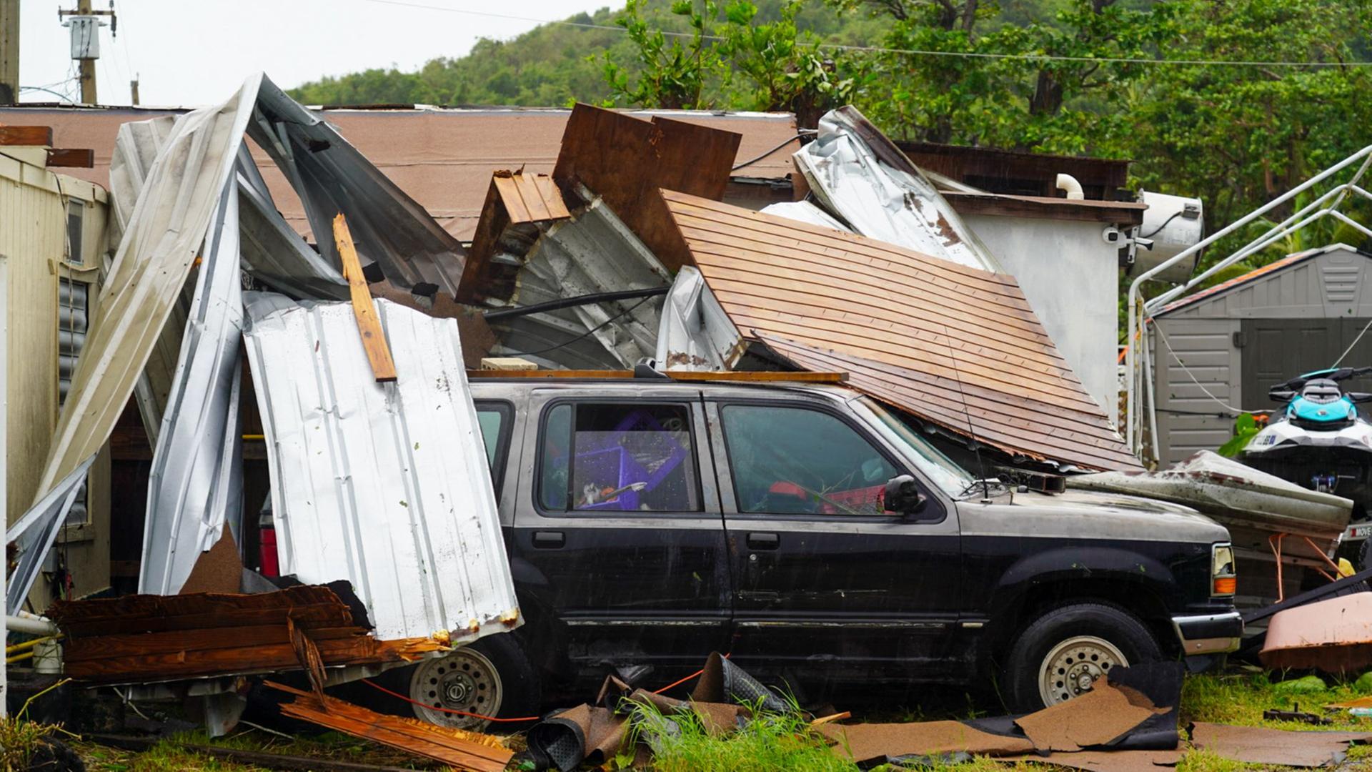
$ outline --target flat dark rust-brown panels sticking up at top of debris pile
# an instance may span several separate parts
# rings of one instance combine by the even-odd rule
[[[720,199],[742,137],[654,115],[643,121],[578,104],[563,133],[553,179],[578,183],[605,199],[615,214],[668,271],[690,262],[659,190]]]

